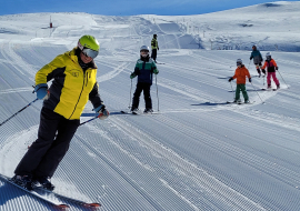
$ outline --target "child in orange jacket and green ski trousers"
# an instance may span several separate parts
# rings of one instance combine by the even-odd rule
[[[237,79],[237,89],[236,89],[236,98],[233,102],[241,102],[240,100],[240,91],[242,92],[244,103],[249,103],[249,97],[246,90],[246,77],[248,77],[249,82],[251,82],[251,76],[248,71],[248,69],[242,64],[242,60],[237,60],[237,69],[233,77],[231,77],[228,81],[232,81],[233,79]]]

